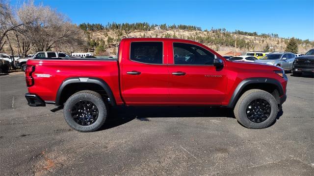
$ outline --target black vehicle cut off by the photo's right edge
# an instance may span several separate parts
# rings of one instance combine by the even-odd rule
[[[303,56],[296,57],[293,62],[293,75],[301,76],[302,73],[314,73],[314,48]]]

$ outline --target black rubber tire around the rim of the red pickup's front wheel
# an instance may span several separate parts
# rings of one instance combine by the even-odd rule
[[[246,115],[246,108],[248,107],[250,102],[255,99],[266,100],[271,108],[269,117],[265,121],[260,123],[250,121]],[[275,97],[270,93],[261,89],[251,89],[244,92],[239,100],[236,102],[234,113],[236,120],[244,127],[249,129],[263,129],[269,127],[276,120],[278,113],[278,103]]]

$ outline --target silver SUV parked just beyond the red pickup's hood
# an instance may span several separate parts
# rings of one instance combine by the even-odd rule
[[[292,70],[294,58],[295,55],[290,52],[275,52],[267,54],[266,56],[254,62],[269,64],[273,66],[280,66],[284,70]]]

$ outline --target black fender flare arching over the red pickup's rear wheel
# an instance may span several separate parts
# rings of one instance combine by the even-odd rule
[[[111,91],[111,88],[108,86],[108,84],[99,78],[93,78],[93,77],[71,77],[71,78],[67,78],[65,79],[62,84],[60,85],[60,87],[58,88],[56,97],[55,97],[55,105],[56,106],[61,106],[60,105],[60,99],[61,99],[61,93],[63,88],[65,88],[67,85],[69,84],[73,84],[73,83],[93,83],[93,84],[97,84],[99,86],[101,86],[102,88],[104,88],[104,90],[106,91],[109,99],[110,99],[110,104],[112,106],[116,105],[116,100],[113,96],[113,93]]]

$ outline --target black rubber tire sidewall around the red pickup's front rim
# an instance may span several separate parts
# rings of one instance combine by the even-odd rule
[[[271,111],[270,111],[270,115],[269,117],[261,122],[261,123],[255,123],[252,122],[246,115],[246,108],[247,106],[254,100],[256,99],[264,99],[265,101],[267,101],[271,107]],[[261,91],[257,91],[257,92],[252,92],[250,93],[247,97],[245,97],[243,99],[243,101],[240,104],[240,108],[239,108],[239,122],[247,127],[247,128],[252,128],[252,129],[261,129],[261,128],[266,128],[268,126],[270,126],[274,120],[277,117],[277,113],[278,113],[278,105],[277,105],[277,101],[276,99],[268,92],[261,92]]]

